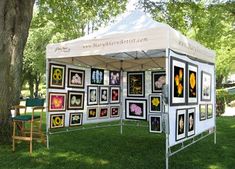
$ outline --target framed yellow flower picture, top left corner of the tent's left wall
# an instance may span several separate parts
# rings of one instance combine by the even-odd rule
[[[65,65],[55,63],[49,64],[49,88],[65,88]]]

